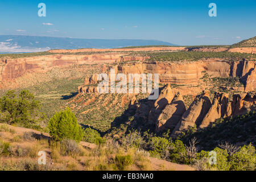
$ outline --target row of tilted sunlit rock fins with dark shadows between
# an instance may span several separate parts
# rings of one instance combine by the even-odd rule
[[[131,126],[141,123],[141,129],[155,128],[155,131],[170,129],[172,137],[176,137],[191,127],[204,128],[218,118],[235,117],[256,110],[256,94],[234,94],[229,100],[225,93],[215,93],[212,101],[208,92],[198,94],[186,109],[179,92],[174,94],[170,85],[166,85],[155,101],[133,101],[129,109],[134,110],[134,121]],[[129,115],[133,112],[127,112]]]

